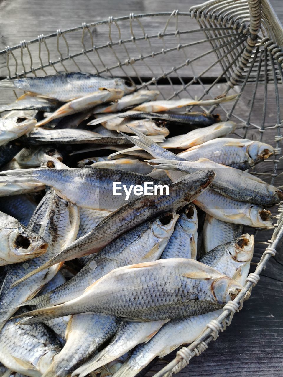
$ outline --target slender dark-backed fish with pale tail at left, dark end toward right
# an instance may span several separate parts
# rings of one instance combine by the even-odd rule
[[[103,123],[116,118],[133,118],[133,119],[150,119],[150,120],[162,120],[170,123],[178,124],[198,124],[199,126],[211,126],[215,123],[215,117],[213,115],[189,112],[185,114],[178,113],[154,113],[144,112],[137,110],[129,110],[123,113],[114,113],[112,115],[105,115],[99,117],[88,123],[88,126],[94,126],[95,124]]]

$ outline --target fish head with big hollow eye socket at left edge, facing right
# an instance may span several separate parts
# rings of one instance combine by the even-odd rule
[[[20,261],[21,256],[32,255],[33,257],[44,254],[48,244],[38,234],[30,231],[23,225],[8,224],[8,250]]]

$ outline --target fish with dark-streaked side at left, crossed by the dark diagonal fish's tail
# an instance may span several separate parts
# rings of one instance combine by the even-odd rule
[[[15,313],[17,305],[31,299],[49,282],[60,268],[59,265],[35,275],[29,282],[19,284],[17,288],[10,285],[19,277],[34,270],[56,255],[65,245],[77,236],[79,212],[75,205],[58,198],[52,190],[43,197],[32,216],[28,227],[48,242],[48,250],[40,257],[28,263],[10,265],[0,291],[0,328]]]

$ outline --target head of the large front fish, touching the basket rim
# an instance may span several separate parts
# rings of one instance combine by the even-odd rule
[[[218,277],[218,279],[213,280],[211,283],[211,292],[214,300],[220,304],[233,300],[242,289],[242,285],[228,276]]]

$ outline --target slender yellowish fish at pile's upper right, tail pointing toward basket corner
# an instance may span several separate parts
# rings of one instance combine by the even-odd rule
[[[192,100],[191,98],[181,98],[180,100],[160,100],[151,101],[149,103],[143,103],[134,107],[133,111],[145,111],[145,112],[160,112],[168,111],[172,109],[179,109],[180,107],[186,106],[212,106],[219,103],[224,103],[228,101],[233,101],[238,97],[238,94],[233,94],[228,97],[216,98],[214,100]]]

